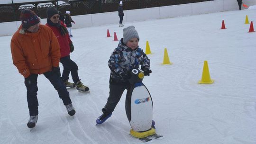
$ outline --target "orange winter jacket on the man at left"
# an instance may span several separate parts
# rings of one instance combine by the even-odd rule
[[[31,73],[42,74],[59,66],[60,45],[50,27],[40,25],[37,33],[15,32],[11,39],[13,64],[27,78]]]

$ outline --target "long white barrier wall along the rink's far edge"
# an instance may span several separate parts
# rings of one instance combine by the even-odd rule
[[[256,0],[243,0],[243,2],[248,6],[256,5]],[[213,0],[165,7],[125,10],[123,23],[143,21],[147,19],[198,15],[228,10],[238,10],[237,0]],[[117,11],[72,16],[72,19],[75,21],[73,28],[119,24],[119,16]],[[46,19],[42,19],[41,23],[46,24]],[[20,24],[20,21],[0,23],[0,36],[13,35]]]

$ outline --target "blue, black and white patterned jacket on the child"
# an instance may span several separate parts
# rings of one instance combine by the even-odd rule
[[[111,84],[128,84],[127,74],[134,68],[148,69],[150,67],[150,60],[143,52],[137,47],[135,50],[123,44],[123,38],[120,40],[118,47],[110,56],[110,83]]]

